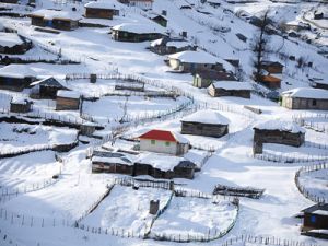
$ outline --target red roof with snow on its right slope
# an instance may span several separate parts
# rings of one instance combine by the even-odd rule
[[[184,136],[167,130],[149,130],[145,133],[138,137],[139,139],[150,139],[150,140],[160,140],[160,141],[171,141],[171,142],[179,142],[179,143],[189,143],[189,140]]]

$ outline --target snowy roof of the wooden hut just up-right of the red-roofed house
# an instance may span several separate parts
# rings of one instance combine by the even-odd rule
[[[201,122],[201,124],[212,124],[212,125],[229,125],[229,119],[222,116],[220,113],[204,109],[198,110],[187,117],[181,119],[184,122]]]

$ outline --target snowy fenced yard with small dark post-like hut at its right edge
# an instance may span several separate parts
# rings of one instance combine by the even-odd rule
[[[82,220],[85,226],[114,229],[121,233],[124,230],[136,234],[145,233],[151,226],[149,213],[150,201],[160,200],[162,209],[171,197],[171,191],[164,189],[115,186],[109,196],[99,207]]]

